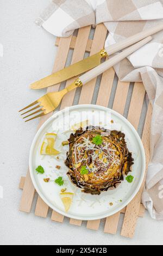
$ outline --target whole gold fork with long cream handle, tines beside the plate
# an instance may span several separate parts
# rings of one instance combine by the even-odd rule
[[[97,77],[98,75],[101,75],[104,71],[108,70],[109,68],[111,68],[112,66],[114,66],[115,64],[120,62],[122,59],[126,58],[131,53],[138,50],[140,47],[147,44],[147,42],[151,40],[152,40],[152,37],[148,36],[147,38],[141,40],[140,42],[137,42],[137,44],[133,46],[128,47],[126,50],[122,51],[121,53],[117,54],[116,56],[112,57],[111,59],[97,66],[96,68],[86,72],[84,75],[80,76],[79,78],[77,78],[77,80],[75,80],[72,84],[70,84],[70,86],[66,87],[60,92],[47,93],[44,96],[40,97],[40,99],[34,101],[30,105],[28,105],[27,107],[24,107],[19,111],[21,112],[34,106],[33,108],[30,108],[28,111],[21,114],[21,115],[24,115],[28,113],[25,117],[23,117],[23,119],[33,116],[32,118],[26,120],[27,122],[35,118],[42,117],[42,115],[45,115],[54,111],[59,106],[59,103],[61,102],[62,97],[64,97],[66,93],[70,92],[71,90],[77,87],[83,86],[83,84],[86,84],[87,82],[90,82],[93,78]]]

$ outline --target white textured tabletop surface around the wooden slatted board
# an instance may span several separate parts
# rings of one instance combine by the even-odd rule
[[[163,245],[163,222],[148,213],[139,218],[134,239],[39,218],[18,211],[22,191],[21,175],[26,175],[30,144],[38,120],[24,123],[18,109],[45,91],[30,91],[29,84],[51,73],[55,52],[54,36],[35,25],[34,20],[51,0],[0,0],[0,244],[1,245]],[[122,221],[122,220],[121,220]]]

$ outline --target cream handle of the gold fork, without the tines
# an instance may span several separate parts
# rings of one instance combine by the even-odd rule
[[[147,42],[152,40],[152,36],[148,36],[148,38],[145,38],[141,40],[140,42],[137,42],[137,44],[132,45],[128,47],[126,50],[122,51],[121,53],[116,54],[116,56],[110,58],[109,60],[106,60],[106,62],[102,63],[99,66],[96,66],[96,68],[86,72],[84,75],[79,77],[79,80],[86,84],[87,82],[90,82],[93,78],[101,75],[106,70],[110,69],[112,66],[120,62],[122,59],[129,56],[131,53],[135,52],[139,48],[141,48],[143,45],[146,45]]]

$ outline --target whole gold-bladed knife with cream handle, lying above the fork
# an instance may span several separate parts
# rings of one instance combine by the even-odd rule
[[[122,40],[114,45],[111,45],[105,49],[102,49],[100,52],[93,54],[92,56],[81,60],[71,66],[68,66],[65,69],[62,69],[58,72],[55,72],[52,75],[49,75],[45,78],[42,78],[39,81],[36,81],[30,85],[31,89],[43,89],[49,86],[53,86],[54,84],[61,83],[65,80],[68,80],[74,76],[78,76],[83,74],[84,72],[95,68],[99,64],[101,64],[101,59],[110,56],[124,48],[135,44],[136,42],[146,38],[149,35],[153,35],[156,32],[159,32],[163,29],[163,23],[157,25],[155,27],[149,28],[146,31],[137,33],[133,36],[130,36],[127,39]]]

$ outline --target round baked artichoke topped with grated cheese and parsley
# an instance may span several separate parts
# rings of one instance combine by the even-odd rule
[[[94,126],[72,133],[65,161],[70,181],[90,194],[116,188],[134,163],[124,137],[121,131]]]

